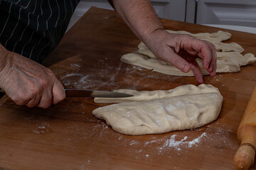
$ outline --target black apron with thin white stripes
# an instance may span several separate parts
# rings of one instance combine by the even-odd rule
[[[58,45],[79,0],[0,0],[0,43],[42,63]]]

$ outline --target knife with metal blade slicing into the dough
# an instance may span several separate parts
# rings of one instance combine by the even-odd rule
[[[96,91],[87,89],[64,89],[66,97],[102,97],[102,98],[124,98],[132,97],[132,94],[123,94],[114,91]],[[0,89],[0,92],[4,93]]]

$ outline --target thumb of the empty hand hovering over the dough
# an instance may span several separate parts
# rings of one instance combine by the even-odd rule
[[[185,73],[189,72],[190,64],[186,60],[184,60],[181,56],[176,55],[174,51],[170,49],[165,56],[166,57],[161,59],[173,64],[177,69],[181,70],[181,72],[185,72]]]

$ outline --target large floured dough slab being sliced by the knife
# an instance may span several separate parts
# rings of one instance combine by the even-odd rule
[[[97,108],[92,114],[126,135],[198,128],[218,118],[223,103],[218,89],[206,84],[178,86],[169,91],[117,91],[134,97],[95,98],[95,102],[118,104]]]

